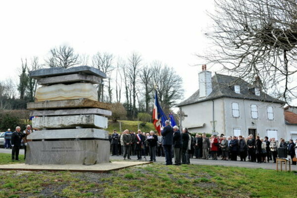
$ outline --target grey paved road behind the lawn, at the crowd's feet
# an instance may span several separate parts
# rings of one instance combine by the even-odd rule
[[[1,153],[11,153],[11,149],[0,148]],[[24,149],[20,149],[20,154],[24,154]],[[132,155],[132,160],[137,161],[137,156]],[[149,156],[146,157],[149,160]],[[110,156],[111,160],[123,160],[122,156]],[[126,159],[127,160],[127,159]],[[142,159],[145,161],[145,159]],[[156,157],[157,163],[165,163],[165,157]],[[217,166],[236,166],[246,168],[263,168],[263,169],[276,169],[275,163],[254,163],[254,162],[243,162],[243,161],[223,161],[223,160],[212,160],[212,159],[191,159],[191,164],[197,165],[217,165]],[[291,170],[297,171],[296,165],[291,165]]]

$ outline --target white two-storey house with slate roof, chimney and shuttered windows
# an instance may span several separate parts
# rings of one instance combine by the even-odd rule
[[[205,67],[199,73],[199,90],[177,105],[188,115],[183,127],[194,133],[287,140],[285,102],[265,94],[261,86],[258,78],[251,85],[234,76],[215,73],[211,77]]]

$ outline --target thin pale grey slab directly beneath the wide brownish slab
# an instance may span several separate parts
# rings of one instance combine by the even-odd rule
[[[81,109],[59,109],[59,110],[35,110],[31,112],[31,116],[56,116],[56,115],[106,115],[110,116],[111,111],[100,108],[81,108]]]

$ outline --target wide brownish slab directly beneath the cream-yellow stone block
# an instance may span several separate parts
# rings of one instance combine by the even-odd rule
[[[56,101],[42,101],[42,102],[29,102],[27,109],[61,109],[61,108],[81,108],[93,107],[101,109],[111,109],[110,103],[94,101],[91,99],[66,99]]]

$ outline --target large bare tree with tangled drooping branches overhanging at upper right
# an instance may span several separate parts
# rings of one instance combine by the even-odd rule
[[[214,44],[204,63],[222,65],[242,78],[260,77],[264,88],[278,88],[288,103],[297,72],[296,0],[215,0]]]

